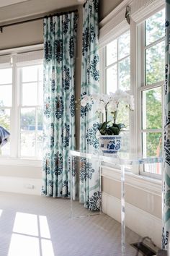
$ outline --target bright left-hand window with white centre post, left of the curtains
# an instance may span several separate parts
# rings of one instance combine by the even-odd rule
[[[42,51],[3,58],[0,56],[0,125],[11,135],[0,155],[42,158]]]

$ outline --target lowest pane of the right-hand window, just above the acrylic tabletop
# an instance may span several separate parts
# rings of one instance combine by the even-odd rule
[[[143,157],[162,155],[161,132],[143,132]]]

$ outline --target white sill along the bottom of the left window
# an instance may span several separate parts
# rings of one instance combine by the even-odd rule
[[[0,158],[0,166],[33,166],[41,167],[42,161],[29,158]]]

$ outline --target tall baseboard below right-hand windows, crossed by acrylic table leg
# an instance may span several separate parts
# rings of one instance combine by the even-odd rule
[[[121,221],[120,199],[102,192],[102,211],[107,215]],[[153,242],[161,247],[162,221],[160,218],[140,210],[129,203],[125,203],[125,222],[129,229],[140,236],[149,236]]]

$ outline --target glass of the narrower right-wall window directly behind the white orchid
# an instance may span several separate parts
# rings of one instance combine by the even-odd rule
[[[105,47],[106,93],[117,89],[130,90],[130,31],[112,40]],[[129,127],[129,111],[125,104],[119,106],[117,123]]]

